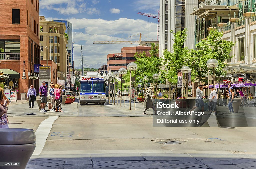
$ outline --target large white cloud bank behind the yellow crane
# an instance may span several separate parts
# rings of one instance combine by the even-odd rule
[[[109,53],[121,53],[122,47],[138,44],[93,44],[94,41],[138,41],[139,33],[142,40],[157,40],[157,23],[140,19],[120,18],[117,20],[76,19],[76,18],[46,18],[47,20],[68,20],[73,24],[74,66],[81,66],[81,44],[84,58],[89,64],[107,63]],[[129,37],[136,35],[133,37]],[[129,38],[126,38],[129,37]],[[153,39],[147,38],[152,37]],[[124,39],[120,39],[124,38]],[[86,65],[85,65],[86,66]]]

